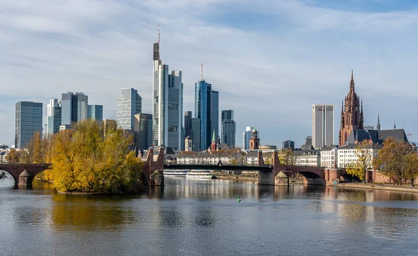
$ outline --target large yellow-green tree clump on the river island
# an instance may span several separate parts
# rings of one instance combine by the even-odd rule
[[[142,163],[128,147],[133,136],[120,129],[103,128],[94,120],[78,122],[61,131],[52,144],[54,186],[59,191],[134,191]]]

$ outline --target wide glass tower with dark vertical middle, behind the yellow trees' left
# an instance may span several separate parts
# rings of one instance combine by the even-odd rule
[[[61,97],[61,125],[71,125],[88,118],[88,96],[84,93],[63,93]]]

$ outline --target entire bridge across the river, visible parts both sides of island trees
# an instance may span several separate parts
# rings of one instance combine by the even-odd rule
[[[330,169],[311,166],[289,166],[281,164],[277,151],[273,152],[273,163],[268,165],[263,161],[263,153],[258,151],[258,166],[227,165],[227,164],[164,164],[164,150],[161,148],[157,161],[153,161],[154,150],[150,148],[144,162],[141,179],[144,184],[163,185],[164,169],[180,170],[249,170],[258,171],[258,184],[288,185],[289,178],[299,173],[304,178],[304,184],[326,185],[345,179],[345,169]],[[19,186],[31,187],[33,177],[43,170],[49,169],[51,163],[38,164],[0,164],[0,170],[5,170],[15,179]]]

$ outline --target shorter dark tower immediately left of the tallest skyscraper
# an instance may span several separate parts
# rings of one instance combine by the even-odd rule
[[[137,150],[148,150],[153,145],[153,115],[134,115],[134,143]]]

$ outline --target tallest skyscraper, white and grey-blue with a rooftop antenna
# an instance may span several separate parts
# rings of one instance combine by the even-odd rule
[[[183,82],[181,71],[169,74],[160,60],[160,28],[153,45],[153,144],[180,150],[183,127]]]

